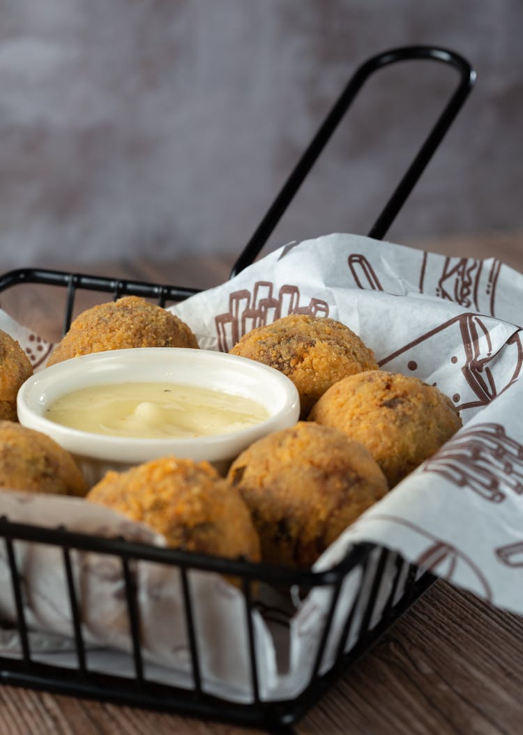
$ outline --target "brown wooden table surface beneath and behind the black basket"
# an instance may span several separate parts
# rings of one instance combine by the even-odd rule
[[[519,255],[523,237],[505,237],[506,251],[499,247],[500,241],[494,237],[454,241],[450,252],[491,254],[523,270]],[[433,249],[435,245],[431,243]],[[443,243],[439,249],[445,248]],[[216,257],[156,265],[107,263],[75,270],[207,287],[223,281],[229,265],[227,259]],[[69,268],[71,263],[63,265],[63,269]],[[4,309],[8,301],[1,297]],[[12,306],[17,306],[15,301]],[[34,309],[35,319],[38,316]],[[516,735],[523,731],[522,691],[523,618],[494,609],[439,581],[364,659],[342,675],[295,726],[295,733]],[[234,725],[0,687],[1,735],[253,732]]]

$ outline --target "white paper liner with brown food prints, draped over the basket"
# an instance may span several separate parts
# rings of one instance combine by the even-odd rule
[[[522,294],[523,276],[496,259],[445,257],[366,237],[333,234],[286,245],[226,284],[172,310],[191,326],[202,348],[221,350],[231,348],[254,326],[292,312],[329,316],[361,336],[375,351],[380,368],[437,384],[460,408],[464,428],[347,528],[315,568],[331,566],[353,542],[372,541],[496,606],[522,614]],[[51,347],[37,335],[18,329],[3,312],[0,329],[29,349],[42,344],[40,353]],[[33,362],[37,365],[38,360]],[[31,522],[26,509],[33,503],[14,503],[9,498],[9,493],[1,494],[0,512],[13,520]],[[79,523],[84,528],[81,514],[71,513],[73,506],[67,501],[70,499],[53,499],[63,512],[62,522],[68,528],[79,528]],[[73,501],[75,509],[84,508],[82,503]],[[40,509],[35,518],[43,523]],[[57,524],[54,516],[53,523]],[[107,531],[105,521],[103,525]],[[356,609],[353,616],[345,650],[356,643],[377,553],[367,566],[359,612]],[[47,579],[42,569],[46,562],[38,558],[35,563],[35,558],[29,553],[21,562],[26,583],[38,587],[46,580],[46,585],[55,584],[54,599],[61,599],[63,581]],[[391,590],[392,560],[388,564],[371,627],[379,622]],[[98,561],[91,559],[82,569],[87,576],[96,575],[97,566]],[[396,598],[401,595],[405,573],[406,564]],[[0,589],[4,589],[8,584],[5,567],[1,574]],[[145,614],[145,655],[148,666],[155,667],[154,676],[184,681],[190,687],[187,640],[179,620],[179,581],[172,572],[168,579],[164,575],[165,570],[149,569],[145,562],[138,574],[140,603],[150,608]],[[204,641],[205,688],[224,698],[248,701],[252,692],[242,596],[218,576],[192,576]],[[321,672],[332,665],[346,613],[360,586],[359,576],[361,571],[355,570],[342,587]],[[84,610],[86,634],[104,665],[130,670],[132,675],[129,659],[123,664],[121,651],[129,650],[129,637],[118,617],[121,610],[111,598],[111,584],[118,583],[110,574],[100,589],[98,582],[90,584],[93,589]],[[306,685],[331,594],[330,588],[314,589],[297,612],[289,613],[288,625],[284,620],[275,622],[273,613],[256,614],[262,698],[292,697]],[[55,634],[52,641],[56,642],[56,634],[70,634],[50,611],[43,615],[42,606],[34,600],[29,608],[28,613],[35,615],[35,627]],[[109,645],[118,646],[120,653],[106,648],[100,653],[100,646]],[[42,642],[40,647],[46,648]],[[47,653],[68,655],[62,650]]]

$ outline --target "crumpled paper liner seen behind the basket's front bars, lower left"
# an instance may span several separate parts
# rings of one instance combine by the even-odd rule
[[[10,520],[37,526],[67,526],[96,536],[120,536],[129,541],[165,545],[159,534],[145,526],[131,523],[116,512],[79,498],[2,492],[1,513]],[[61,637],[73,635],[61,549],[17,542],[15,550],[18,573],[24,580],[26,625],[40,633],[52,631],[54,634],[48,640],[43,635],[36,637],[37,650],[39,653],[61,653],[64,650]],[[98,670],[101,647],[132,650],[122,567],[118,558],[102,553],[71,551],[71,562],[82,615],[82,636],[87,648],[94,649],[93,655],[88,657],[87,667]],[[168,667],[170,683],[190,688],[190,644],[184,622],[179,570],[145,561],[137,562],[133,568],[148,676],[154,676],[155,672],[157,676],[158,666]],[[244,598],[236,587],[217,574],[192,570],[188,577],[203,689],[214,695],[250,701]],[[4,621],[15,620],[10,567],[4,545],[0,545],[0,589],[0,617]],[[271,679],[275,671],[273,642],[256,611],[253,623],[256,645],[264,651],[260,673],[261,692],[266,695],[268,687],[274,684]],[[13,646],[9,641],[11,652],[19,650]],[[104,651],[104,659],[112,670],[107,651]],[[121,665],[122,656],[118,656],[118,660]],[[133,675],[131,659],[118,673]]]

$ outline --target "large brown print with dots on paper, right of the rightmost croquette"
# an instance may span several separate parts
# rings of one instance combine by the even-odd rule
[[[521,334],[516,332],[511,335],[504,345],[505,351],[510,348],[513,368],[508,381],[505,379],[504,384],[497,385],[494,373],[488,365],[497,356],[497,353],[492,351],[488,328],[481,316],[477,314],[460,314],[434,329],[430,329],[425,334],[421,334],[392,354],[383,357],[378,363],[380,368],[383,368],[392,359],[403,356],[408,370],[416,372],[419,368],[418,360],[409,359],[410,356],[415,356],[415,348],[424,345],[425,351],[428,351],[430,344],[431,353],[439,356],[439,341],[441,340],[441,343],[444,343],[446,340],[444,332],[447,330],[455,331],[455,341],[461,341],[461,348],[456,351],[457,354],[451,356],[450,361],[461,366],[461,373],[470,390],[470,394],[467,396],[458,393],[452,395],[452,400],[458,409],[486,406],[503,390],[507,390],[517,379],[523,364]],[[411,352],[411,355],[409,355],[409,352]],[[508,354],[508,351],[506,354]],[[436,365],[436,358],[433,360],[433,365]],[[425,365],[425,370],[432,368],[433,365]]]

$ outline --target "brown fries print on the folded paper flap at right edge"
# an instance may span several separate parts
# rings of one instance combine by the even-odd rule
[[[506,491],[523,494],[523,445],[508,437],[499,423],[476,424],[456,434],[422,471],[501,503]]]

